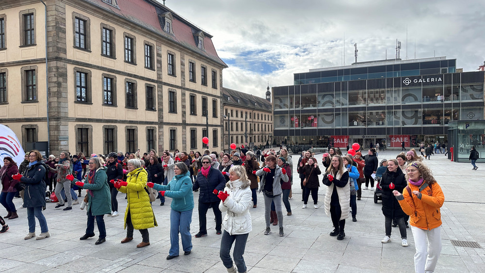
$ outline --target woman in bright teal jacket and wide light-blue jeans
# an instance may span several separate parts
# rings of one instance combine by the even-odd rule
[[[162,196],[172,198],[170,208],[170,251],[167,260],[178,257],[178,232],[182,237],[184,255],[189,255],[192,250],[192,236],[190,235],[190,223],[192,222],[192,210],[194,209],[194,193],[192,193],[192,180],[189,168],[184,162],[177,162],[174,166],[175,177],[167,185],[146,183],[150,188],[160,191]]]

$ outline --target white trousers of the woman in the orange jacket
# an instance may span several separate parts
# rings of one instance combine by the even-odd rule
[[[416,254],[414,269],[416,273],[434,272],[439,254],[441,253],[441,226],[431,230],[411,226]]]

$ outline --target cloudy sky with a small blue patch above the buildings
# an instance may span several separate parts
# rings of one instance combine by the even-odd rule
[[[162,0],[159,0],[162,2]],[[485,1],[166,0],[213,35],[224,87],[264,97],[293,73],[357,61],[446,56],[473,71],[485,60]],[[406,46],[407,28],[407,46]],[[344,42],[345,35],[345,42]],[[345,44],[345,59],[343,58]],[[416,48],[416,49],[415,49]]]

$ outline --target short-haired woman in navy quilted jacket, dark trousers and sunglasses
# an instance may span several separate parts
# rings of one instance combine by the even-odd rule
[[[218,169],[210,166],[212,158],[210,156],[202,157],[202,168],[200,168],[197,178],[194,181],[192,190],[198,190],[199,193],[199,232],[195,234],[195,238],[200,238],[207,235],[207,210],[212,207],[215,215],[215,230],[216,234],[222,234],[222,213],[219,210],[219,202],[221,199],[217,197],[214,190],[217,192],[224,190],[226,186],[226,179]]]

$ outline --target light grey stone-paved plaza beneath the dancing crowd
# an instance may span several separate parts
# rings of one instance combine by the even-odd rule
[[[395,158],[400,151],[380,152],[379,161]],[[321,154],[316,158],[321,164]],[[296,168],[298,155],[293,155]],[[436,272],[466,273],[485,272],[485,251],[482,248],[453,246],[451,240],[474,241],[485,246],[484,181],[485,165],[472,171],[469,163],[450,162],[443,154],[426,160],[445,194],[442,215],[442,251]],[[321,180],[321,178],[320,178]],[[321,184],[322,185],[322,184]],[[250,209],[253,231],[249,234],[244,259],[250,273],[271,272],[414,272],[414,239],[407,229],[409,247],[401,246],[398,227],[392,229],[390,243],[381,243],[384,237],[384,216],[381,202],[374,204],[373,193],[362,191],[362,200],[357,201],[357,222],[348,219],[345,225],[346,237],[337,241],[328,234],[332,223],[325,215],[323,197],[325,186],[320,187],[318,209],[309,206],[302,209],[300,181],[296,176],[293,184],[293,199],[290,200],[293,214],[284,216],[285,236],[278,236],[277,226],[272,225],[270,235],[263,235],[264,201],[258,195],[258,208]],[[6,220],[10,230],[0,234],[1,272],[226,272],[219,258],[221,235],[216,235],[213,214],[209,210],[208,236],[192,239],[192,254],[166,260],[170,247],[170,198],[165,206],[159,206],[157,199],[153,210],[158,227],[150,228],[150,245],[138,249],[141,241],[138,231],[134,240],[121,244],[126,231],[123,229],[123,215],[126,208],[125,194],[118,194],[118,217],[105,217],[108,237],[106,242],[95,245],[97,236],[80,241],[86,228],[86,212],[73,206],[70,211],[54,209],[55,203],[48,203],[44,214],[49,225],[50,237],[44,240],[24,240],[28,233],[26,209],[18,209],[20,198],[14,198],[19,218]],[[198,232],[198,193],[194,193],[195,208],[192,216],[191,233]],[[308,201],[311,203],[311,197]],[[2,215],[5,210],[0,209]],[[283,208],[284,210],[284,208]],[[40,227],[36,227],[36,234]],[[97,233],[97,228],[95,228]],[[183,253],[182,253],[183,254]]]

